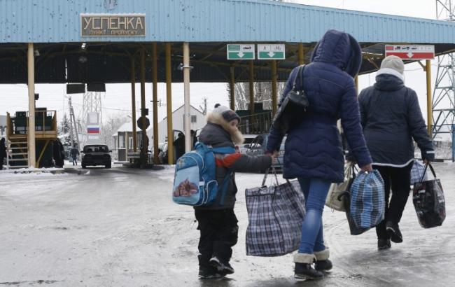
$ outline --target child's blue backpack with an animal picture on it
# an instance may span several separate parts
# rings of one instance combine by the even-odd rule
[[[215,202],[218,192],[221,191],[223,194],[219,204],[224,204],[232,173],[225,177],[219,188],[215,176],[214,153],[235,153],[235,148],[230,146],[212,148],[197,142],[193,151],[185,153],[177,160],[172,190],[172,200],[175,203],[195,207],[209,206]]]

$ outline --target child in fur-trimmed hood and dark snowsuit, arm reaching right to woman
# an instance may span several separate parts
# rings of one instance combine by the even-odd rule
[[[240,118],[225,106],[216,109],[207,116],[207,125],[202,129],[199,141],[215,147],[241,144],[244,141],[238,130]],[[272,165],[271,155],[249,156],[241,153],[228,155],[215,154],[216,181],[222,186],[223,179],[231,172],[258,172]],[[230,178],[224,204],[220,204],[221,193],[216,202],[209,207],[195,207],[198,221],[197,229],[201,232],[199,241],[199,276],[200,278],[218,278],[234,273],[229,264],[232,246],[237,244],[237,218],[234,214],[237,186],[235,176]]]

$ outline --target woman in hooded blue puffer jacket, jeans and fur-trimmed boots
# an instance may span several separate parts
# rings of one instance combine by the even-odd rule
[[[323,241],[322,211],[330,184],[344,179],[339,118],[358,165],[363,171],[372,170],[353,81],[361,61],[360,45],[353,36],[329,30],[316,44],[311,64],[304,67],[302,83],[296,83],[305,91],[309,107],[302,120],[291,123],[287,132],[283,177],[299,180],[306,201],[300,248],[294,256],[295,277],[299,279],[319,278],[332,268]],[[281,102],[292,89],[296,74],[297,68],[290,73]],[[270,130],[269,153],[279,151],[284,135],[277,129]]]

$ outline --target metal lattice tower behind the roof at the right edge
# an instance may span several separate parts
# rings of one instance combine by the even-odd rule
[[[436,0],[438,20],[455,22],[455,1]],[[447,140],[455,134],[455,53],[442,55],[437,61],[437,76],[433,91],[433,139]],[[445,135],[444,135],[445,134]],[[452,160],[454,160],[452,142]]]

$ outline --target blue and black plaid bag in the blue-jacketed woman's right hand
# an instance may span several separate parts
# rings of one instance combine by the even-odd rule
[[[346,218],[351,235],[360,235],[384,220],[384,181],[377,170],[356,176],[349,190],[348,204]]]

